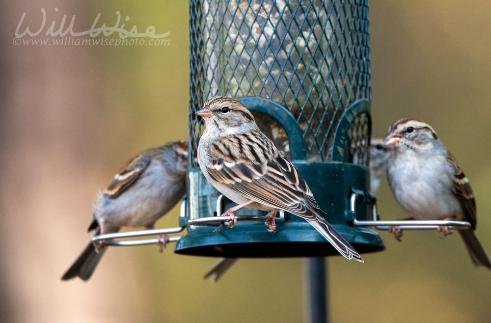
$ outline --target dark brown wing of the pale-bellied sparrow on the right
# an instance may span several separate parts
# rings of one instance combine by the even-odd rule
[[[459,202],[464,210],[465,218],[470,222],[472,229],[476,228],[476,199],[472,188],[470,188],[469,180],[462,171],[461,166],[451,153],[447,153],[448,158],[454,165],[454,194],[459,199]]]

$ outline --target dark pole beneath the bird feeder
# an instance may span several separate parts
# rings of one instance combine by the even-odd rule
[[[307,322],[327,322],[327,278],[324,257],[307,258],[305,269]]]

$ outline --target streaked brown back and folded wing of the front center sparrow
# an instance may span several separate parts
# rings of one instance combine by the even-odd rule
[[[245,141],[245,142],[244,142]],[[254,202],[313,219],[319,206],[301,174],[266,136],[230,136],[211,147],[208,174]]]

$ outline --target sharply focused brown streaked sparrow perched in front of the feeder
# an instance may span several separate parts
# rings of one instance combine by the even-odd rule
[[[257,127],[240,102],[218,96],[196,112],[205,120],[198,146],[201,171],[210,184],[238,205],[225,211],[227,225],[235,225],[234,212],[242,207],[268,211],[268,231],[274,231],[279,210],[307,220],[347,259],[360,255],[318,211],[310,188],[273,142]]]

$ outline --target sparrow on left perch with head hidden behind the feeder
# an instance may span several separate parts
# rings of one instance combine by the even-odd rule
[[[119,231],[119,227],[153,229],[155,222],[186,193],[188,141],[169,142],[136,155],[99,194],[88,231],[95,235]],[[160,249],[168,237],[159,237]],[[105,243],[89,242],[65,272],[62,280],[90,278],[104,254]]]

